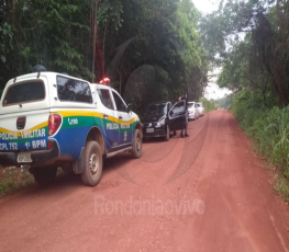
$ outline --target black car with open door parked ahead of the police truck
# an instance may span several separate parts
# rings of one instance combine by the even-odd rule
[[[155,102],[146,108],[143,123],[144,139],[148,137],[164,137],[169,140],[170,133],[179,130],[186,125],[185,101],[171,106],[170,102]]]

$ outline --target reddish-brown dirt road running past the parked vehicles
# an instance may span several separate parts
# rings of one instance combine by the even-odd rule
[[[93,188],[59,174],[0,201],[0,251],[289,251],[288,206],[233,116],[189,134],[107,160]]]

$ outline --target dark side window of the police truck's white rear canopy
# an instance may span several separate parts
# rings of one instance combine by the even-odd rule
[[[92,103],[90,87],[85,81],[58,76],[57,92],[60,101]]]

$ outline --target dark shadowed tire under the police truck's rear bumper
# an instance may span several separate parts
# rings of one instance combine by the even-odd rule
[[[57,167],[44,167],[44,168],[34,168],[33,176],[38,185],[45,186],[51,184],[57,173]]]

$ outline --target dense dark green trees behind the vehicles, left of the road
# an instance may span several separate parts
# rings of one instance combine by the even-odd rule
[[[42,64],[91,81],[109,76],[138,111],[186,91],[198,100],[208,71],[199,19],[189,0],[3,0],[0,89]],[[147,67],[149,76],[140,71]],[[142,89],[157,96],[138,98]]]

